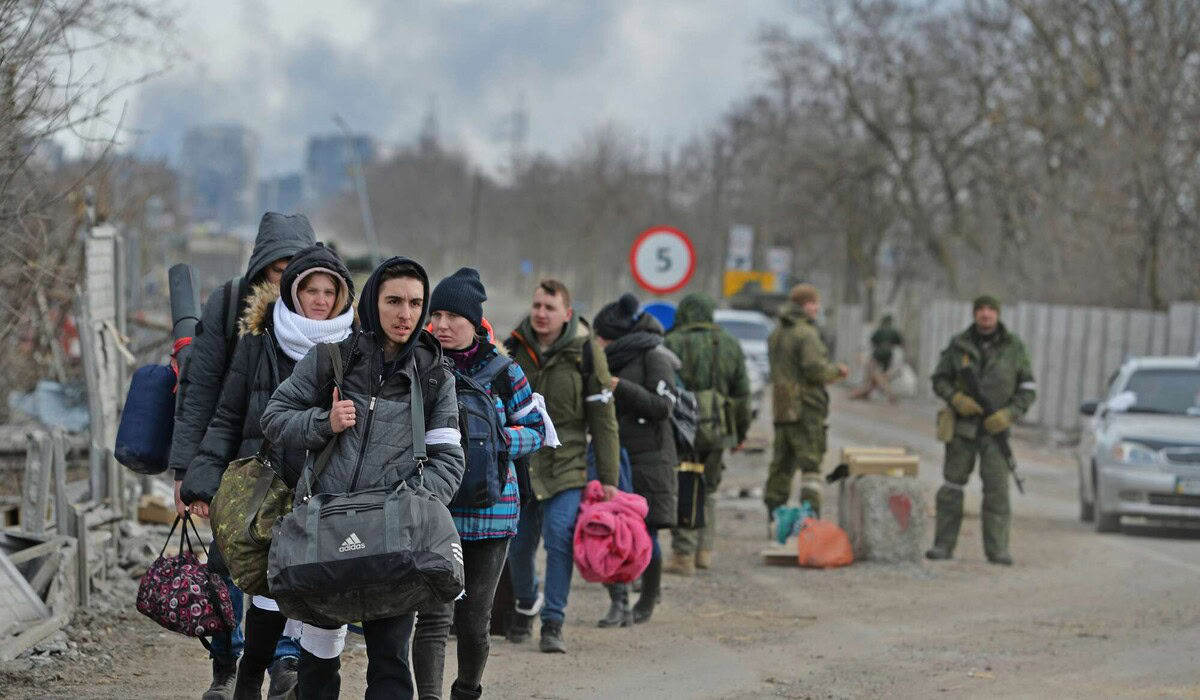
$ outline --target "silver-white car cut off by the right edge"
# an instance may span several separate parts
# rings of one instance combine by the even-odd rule
[[[1200,520],[1200,358],[1128,360],[1081,411],[1084,521],[1116,532],[1124,515]]]

